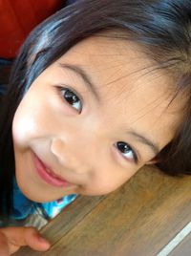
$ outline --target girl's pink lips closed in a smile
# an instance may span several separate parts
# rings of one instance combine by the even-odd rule
[[[55,174],[53,174],[53,171],[50,170],[46,165],[38,159],[38,157],[34,154],[34,164],[36,167],[36,171],[40,178],[43,181],[46,181],[47,183],[53,185],[53,186],[62,186],[62,187],[68,187],[72,184],[68,181],[65,181],[64,179],[58,178]]]

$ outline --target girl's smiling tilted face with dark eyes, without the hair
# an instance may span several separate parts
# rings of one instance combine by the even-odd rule
[[[151,69],[138,46],[92,37],[33,81],[12,125],[28,198],[107,194],[154,159],[174,136],[179,106],[167,107],[171,81]]]

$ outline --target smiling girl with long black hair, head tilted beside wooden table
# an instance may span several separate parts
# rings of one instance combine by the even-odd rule
[[[30,34],[1,102],[2,218],[13,181],[43,205],[108,194],[144,164],[191,174],[190,4],[78,1]],[[0,231],[6,255],[49,246],[32,227]]]

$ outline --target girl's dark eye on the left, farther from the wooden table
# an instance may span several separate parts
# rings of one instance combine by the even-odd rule
[[[59,88],[61,91],[61,95],[64,97],[64,99],[74,108],[77,110],[77,112],[81,113],[82,111],[82,103],[78,96],[75,95],[75,93],[67,88]]]

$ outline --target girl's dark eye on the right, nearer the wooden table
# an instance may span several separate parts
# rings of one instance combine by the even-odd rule
[[[138,156],[135,151],[126,142],[118,141],[117,149],[121,152],[122,156],[127,160],[134,160],[138,163]]]

